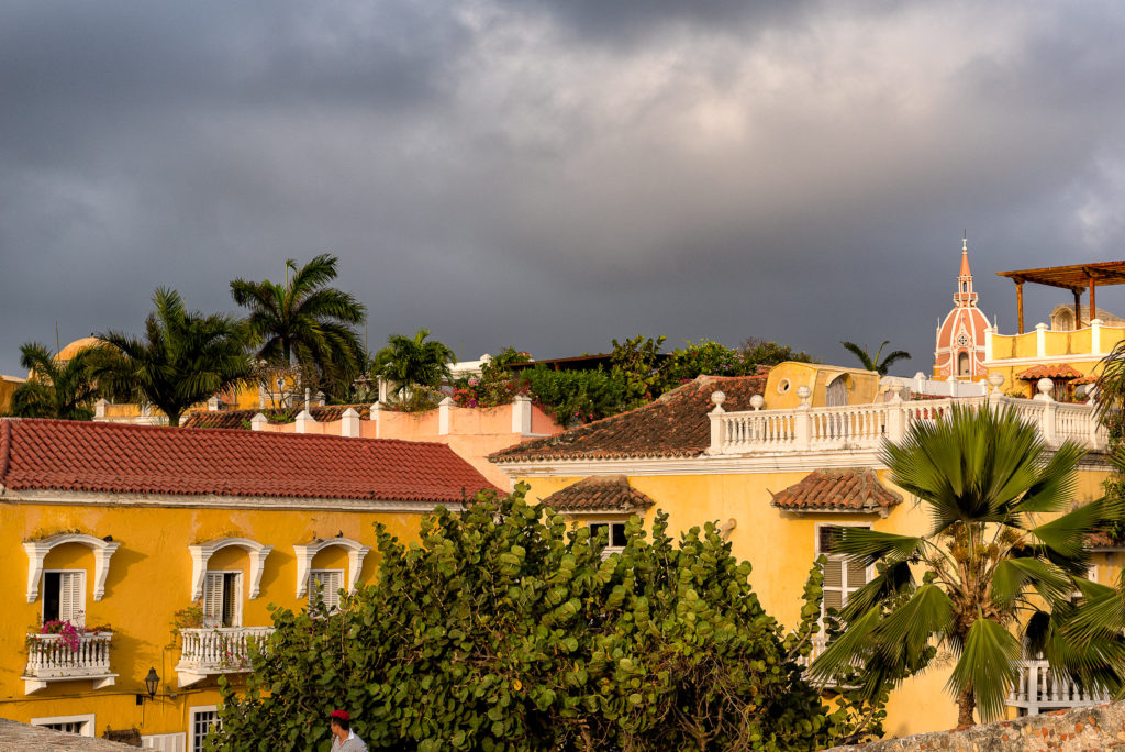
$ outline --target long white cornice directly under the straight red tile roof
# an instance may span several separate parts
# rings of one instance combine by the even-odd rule
[[[220,496],[137,494],[87,491],[11,491],[0,486],[0,502],[78,507],[166,507],[192,509],[266,509],[286,511],[426,513],[436,507],[460,509],[460,502],[394,501],[382,499],[290,499],[284,496]]]

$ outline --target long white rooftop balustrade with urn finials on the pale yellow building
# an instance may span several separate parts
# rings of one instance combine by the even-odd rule
[[[803,387],[802,387],[803,388]],[[1042,388],[1042,387],[1041,387]],[[1011,406],[1020,418],[1035,424],[1047,446],[1070,439],[1088,449],[1105,449],[1108,433],[1092,404],[1060,404],[1041,394],[1022,400],[992,394],[957,400],[903,401],[794,410],[726,412],[721,393],[712,395],[711,455],[752,453],[796,453],[839,449],[879,449],[884,439],[900,441],[911,423],[940,420],[954,403],[980,408]]]

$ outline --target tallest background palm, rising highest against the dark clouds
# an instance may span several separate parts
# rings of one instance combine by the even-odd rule
[[[287,260],[292,272],[285,285],[235,279],[231,295],[250,308],[250,332],[258,358],[297,368],[306,378],[348,384],[363,368],[363,343],[353,325],[367,308],[352,295],[327,284],[336,278],[336,257],[322,253],[305,266]],[[309,384],[309,386],[313,386]]]

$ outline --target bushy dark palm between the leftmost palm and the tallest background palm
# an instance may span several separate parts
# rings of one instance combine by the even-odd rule
[[[119,399],[147,402],[179,426],[183,411],[250,373],[246,330],[224,314],[187,311],[173,289],[160,287],[145,320],[144,340],[106,332],[91,358],[91,373]]]

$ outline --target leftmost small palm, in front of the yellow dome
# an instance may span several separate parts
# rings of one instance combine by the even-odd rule
[[[90,420],[90,404],[98,387],[89,374],[90,348],[75,352],[70,360],[57,360],[38,342],[19,348],[19,365],[30,373],[11,395],[11,414],[18,418],[61,418]]]

